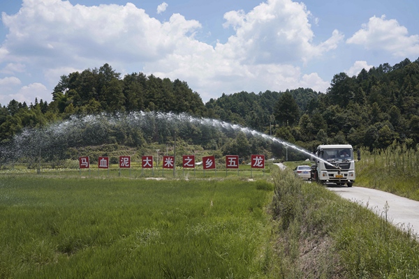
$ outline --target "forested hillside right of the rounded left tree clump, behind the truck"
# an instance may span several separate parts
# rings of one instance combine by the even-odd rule
[[[318,144],[385,149],[419,144],[419,59],[339,73],[325,93],[311,89],[240,92],[210,100],[207,114],[313,150]],[[272,124],[274,128],[272,128]]]

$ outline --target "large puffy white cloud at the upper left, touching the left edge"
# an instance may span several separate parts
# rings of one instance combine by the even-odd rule
[[[87,7],[68,1],[24,1],[19,13],[3,13],[2,19],[10,30],[3,44],[9,58],[40,64],[42,60],[45,66],[152,61],[200,28],[196,20],[177,14],[162,24],[133,3]]]

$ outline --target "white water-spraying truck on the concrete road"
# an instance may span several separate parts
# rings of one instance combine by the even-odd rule
[[[319,145],[315,155],[312,157],[311,181],[352,187],[355,182],[355,156],[350,144]],[[361,160],[359,150],[358,160]]]

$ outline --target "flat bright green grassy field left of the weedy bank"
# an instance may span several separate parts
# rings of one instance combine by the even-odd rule
[[[3,176],[0,278],[274,278],[267,181]]]

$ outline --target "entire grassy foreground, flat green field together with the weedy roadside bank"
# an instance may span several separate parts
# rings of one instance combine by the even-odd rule
[[[3,176],[0,278],[419,278],[418,241],[386,209],[272,177]]]

